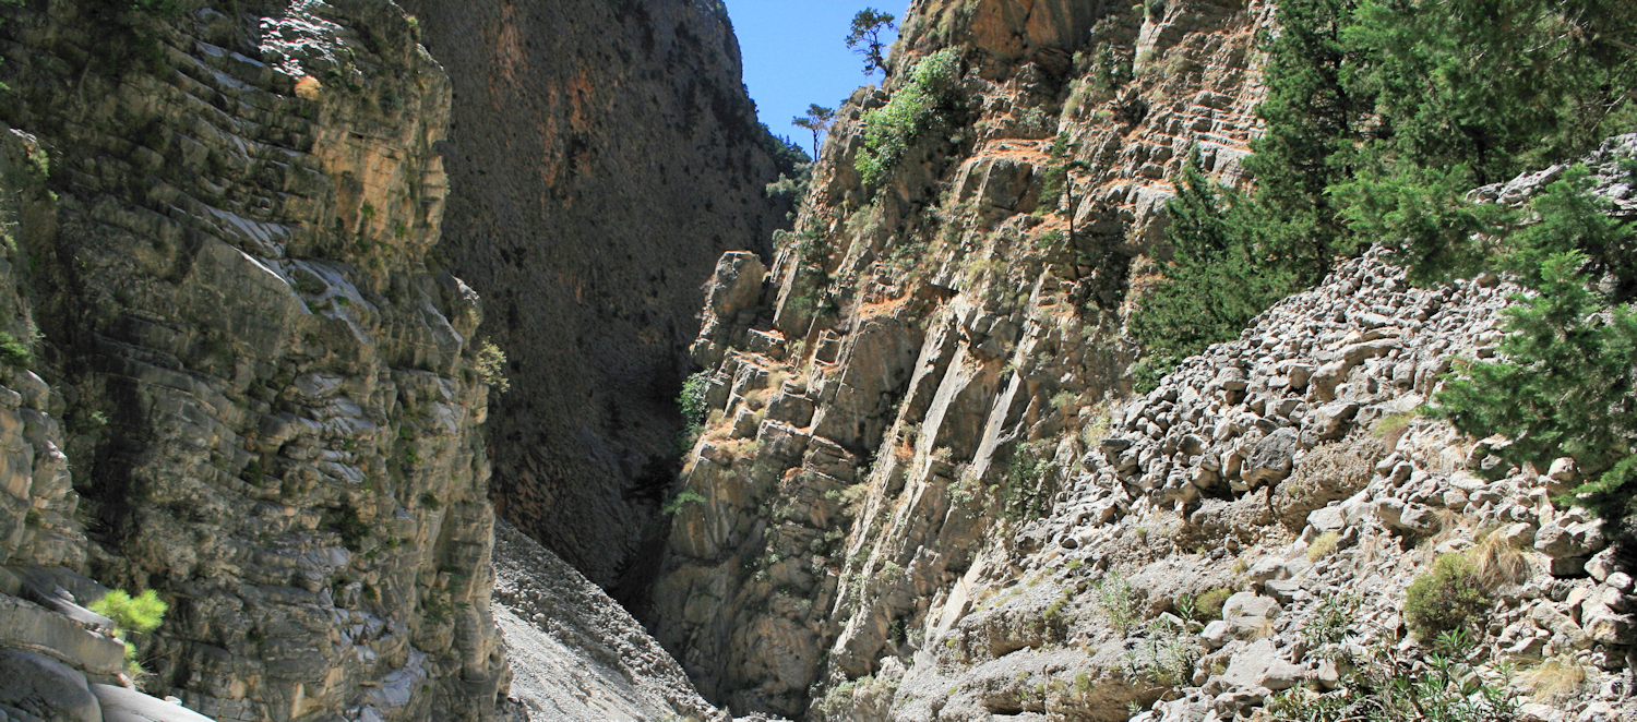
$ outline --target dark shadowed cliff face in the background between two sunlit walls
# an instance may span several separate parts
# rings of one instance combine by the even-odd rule
[[[738,44],[686,0],[403,5],[455,87],[442,252],[511,357],[496,504],[630,601],[665,534],[699,287],[782,214]]]

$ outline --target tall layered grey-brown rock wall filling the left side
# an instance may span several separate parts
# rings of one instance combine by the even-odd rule
[[[8,562],[157,589],[147,686],[219,720],[493,719],[478,298],[427,265],[449,80],[386,0],[174,5],[0,5],[52,192],[10,260],[51,390],[8,383]]]

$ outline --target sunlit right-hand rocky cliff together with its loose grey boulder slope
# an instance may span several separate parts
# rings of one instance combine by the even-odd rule
[[[648,611],[707,699],[1311,719],[1310,694],[1421,679],[1444,647],[1406,586],[1473,565],[1473,679],[1519,704],[1508,684],[1534,684],[1539,719],[1621,714],[1630,560],[1549,499],[1567,460],[1511,467],[1418,414],[1495,354],[1495,277],[1411,288],[1372,252],[1159,390],[1121,378],[1188,149],[1244,183],[1270,5],[909,15],[771,268],[727,254],[707,288],[704,429]],[[1503,679],[1508,655],[1578,681]]]

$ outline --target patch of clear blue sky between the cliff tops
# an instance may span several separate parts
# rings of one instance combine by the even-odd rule
[[[837,108],[864,77],[864,59],[846,47],[853,15],[876,8],[904,18],[909,0],[724,0],[745,56],[745,87],[761,121],[812,152],[812,133],[791,126],[809,103]],[[886,33],[884,43],[895,39]]]

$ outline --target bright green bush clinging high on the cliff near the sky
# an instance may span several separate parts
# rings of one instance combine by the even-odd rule
[[[917,62],[910,80],[892,93],[887,105],[864,111],[864,147],[855,160],[864,185],[886,180],[910,144],[953,103],[959,79],[959,51],[945,47]]]

